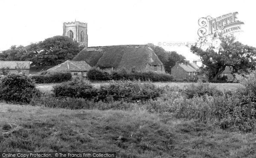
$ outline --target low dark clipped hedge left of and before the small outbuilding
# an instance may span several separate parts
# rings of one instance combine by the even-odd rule
[[[70,72],[54,72],[45,75],[32,75],[31,78],[35,83],[60,83],[71,80],[72,75]]]

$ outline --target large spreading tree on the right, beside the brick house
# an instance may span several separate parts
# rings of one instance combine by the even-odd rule
[[[198,55],[202,63],[207,66],[207,75],[210,80],[218,80],[218,76],[225,70],[226,66],[232,67],[232,73],[247,72],[254,69],[256,64],[256,48],[247,46],[232,35],[220,38],[220,46],[210,46],[206,50],[198,46],[191,46],[192,53]]]

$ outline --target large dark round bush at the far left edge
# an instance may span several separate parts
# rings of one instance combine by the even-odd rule
[[[26,75],[9,74],[1,80],[0,99],[12,103],[29,103],[40,92]]]

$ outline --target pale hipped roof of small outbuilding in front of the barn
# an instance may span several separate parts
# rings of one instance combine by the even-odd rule
[[[88,71],[90,69],[90,65],[85,61],[73,61],[67,60],[64,63],[61,63],[57,66],[54,66],[47,71],[51,72],[64,72],[64,71]]]

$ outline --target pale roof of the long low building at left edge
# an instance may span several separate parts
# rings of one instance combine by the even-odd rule
[[[29,69],[30,61],[0,61],[0,69]]]

